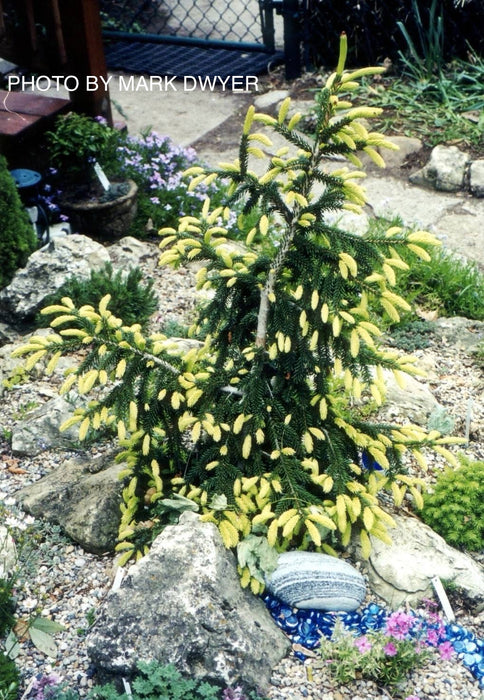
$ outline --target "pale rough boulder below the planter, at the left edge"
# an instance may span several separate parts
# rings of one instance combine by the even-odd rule
[[[32,253],[26,266],[0,292],[0,319],[28,323],[67,279],[88,279],[92,270],[100,270],[108,262],[106,248],[87,236],[53,238]]]

